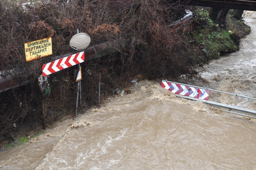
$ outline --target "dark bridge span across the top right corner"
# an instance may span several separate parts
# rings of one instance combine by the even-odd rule
[[[256,11],[256,0],[190,0],[187,5]]]

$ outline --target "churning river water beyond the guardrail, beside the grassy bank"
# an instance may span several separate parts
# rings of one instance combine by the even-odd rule
[[[247,11],[245,23],[251,33],[241,40],[236,53],[212,60],[202,70],[202,77],[208,82],[197,85],[228,93],[256,98],[256,12]],[[210,101],[256,110],[256,100],[210,91]]]

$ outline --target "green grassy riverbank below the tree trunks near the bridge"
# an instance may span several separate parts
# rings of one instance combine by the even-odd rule
[[[226,17],[226,29],[219,27],[209,18],[207,8],[197,8],[196,11],[195,31],[193,31],[191,39],[203,51],[200,54],[202,63],[239,50],[240,39],[250,33],[250,27],[243,20],[233,18],[232,10]]]

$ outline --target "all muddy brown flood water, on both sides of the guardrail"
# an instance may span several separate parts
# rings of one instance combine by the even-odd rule
[[[209,88],[255,98],[255,13],[247,23],[252,33],[240,51],[211,61],[202,76]],[[161,82],[145,80],[129,90],[0,152],[0,170],[256,170],[254,119],[178,98]],[[256,110],[249,99],[211,92],[210,99]]]

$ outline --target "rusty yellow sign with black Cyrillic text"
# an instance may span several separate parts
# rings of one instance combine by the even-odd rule
[[[52,37],[24,44],[26,61],[52,55]]]

